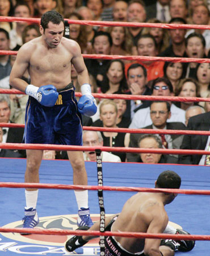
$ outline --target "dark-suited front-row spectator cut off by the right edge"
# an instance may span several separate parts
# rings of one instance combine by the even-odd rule
[[[210,130],[210,112],[190,117],[187,129],[191,131]],[[210,136],[205,135],[184,135],[180,149],[200,149],[210,150]],[[210,155],[210,151],[209,151]],[[180,155],[179,164],[199,164],[206,163],[205,155]]]

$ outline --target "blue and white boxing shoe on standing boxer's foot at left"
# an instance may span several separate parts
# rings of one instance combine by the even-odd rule
[[[37,217],[35,208],[25,208],[24,214],[25,216],[23,218],[23,228],[33,229],[33,227],[39,224],[39,218]],[[30,233],[21,234],[29,235]]]

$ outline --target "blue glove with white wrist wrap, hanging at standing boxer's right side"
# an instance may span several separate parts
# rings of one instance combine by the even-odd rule
[[[82,115],[93,116],[97,111],[96,101],[91,95],[90,84],[81,86],[82,97],[78,101],[78,110]]]

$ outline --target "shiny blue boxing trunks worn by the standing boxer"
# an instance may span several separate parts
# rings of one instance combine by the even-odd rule
[[[29,97],[26,106],[24,143],[82,145],[82,117],[77,109],[73,83],[58,91],[53,107]]]

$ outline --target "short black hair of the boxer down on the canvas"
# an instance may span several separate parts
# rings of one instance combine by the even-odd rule
[[[179,189],[181,185],[180,176],[173,170],[165,170],[159,174],[156,182],[156,188]]]

